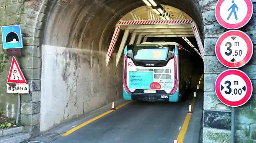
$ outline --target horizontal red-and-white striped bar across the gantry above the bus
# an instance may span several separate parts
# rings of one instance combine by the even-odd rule
[[[145,24],[191,24],[192,19],[182,20],[138,20],[138,21],[119,21],[117,25],[145,25]]]

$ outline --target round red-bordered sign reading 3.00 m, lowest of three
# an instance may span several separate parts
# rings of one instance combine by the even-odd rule
[[[238,107],[245,104],[251,98],[253,85],[243,71],[228,69],[217,77],[215,93],[223,104]]]

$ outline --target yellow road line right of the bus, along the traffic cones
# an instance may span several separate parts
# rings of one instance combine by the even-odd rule
[[[196,98],[193,98],[192,101],[191,101],[191,111],[193,111],[193,108],[194,108],[194,105],[195,105],[195,102],[196,102]],[[182,125],[182,128],[179,132],[179,135],[178,135],[178,143],[183,143],[183,139],[184,139],[184,136],[185,136],[185,133],[188,129],[188,124],[189,124],[189,120],[190,120],[190,117],[191,117],[191,114],[187,114],[186,118],[185,118],[185,121]]]

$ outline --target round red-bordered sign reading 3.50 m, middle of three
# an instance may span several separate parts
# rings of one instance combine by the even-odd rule
[[[226,67],[242,67],[253,56],[253,42],[245,32],[230,30],[218,38],[215,54]]]

